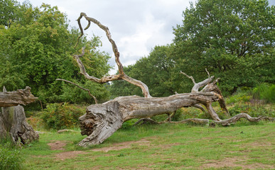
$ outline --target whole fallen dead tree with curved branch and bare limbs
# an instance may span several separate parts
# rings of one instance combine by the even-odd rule
[[[204,110],[203,106],[205,106],[207,113],[209,113],[212,118],[212,121],[193,118],[177,123],[193,122],[200,124],[211,123],[211,125],[230,125],[235,123],[240,118],[246,118],[252,122],[261,120],[261,118],[251,118],[246,113],[240,113],[239,115],[236,115],[230,119],[221,120],[215,110],[212,108],[212,102],[218,101],[221,108],[224,109],[228,114],[227,108],[225,106],[225,100],[222,97],[220,89],[216,85],[218,79],[213,81],[214,77],[210,77],[210,74],[207,72],[207,70],[206,72],[208,74],[208,78],[199,83],[195,83],[195,79],[193,79],[193,77],[190,77],[187,74],[181,72],[181,74],[185,74],[186,77],[192,79],[194,83],[191,93],[175,94],[173,96],[162,98],[151,97],[146,84],[139,80],[133,79],[124,73],[122,63],[119,61],[119,51],[117,49],[117,45],[115,44],[114,40],[112,40],[109,29],[106,26],[102,25],[102,23],[99,23],[99,21],[95,20],[94,18],[88,17],[85,13],[80,13],[80,17],[77,19],[77,22],[80,27],[81,35],[78,40],[83,35],[83,29],[80,23],[82,17],[88,21],[88,25],[85,30],[90,27],[90,23],[92,22],[105,31],[109,42],[112,44],[112,50],[114,51],[115,60],[119,68],[119,74],[102,77],[100,79],[87,74],[85,67],[80,60],[80,57],[84,55],[84,48],[82,49],[81,55],[74,56],[78,67],[80,67],[80,73],[83,74],[87,79],[100,84],[106,83],[107,81],[124,79],[131,84],[139,86],[144,94],[144,97],[120,96],[114,98],[112,101],[107,101],[106,103],[88,106],[85,115],[82,115],[79,118],[81,134],[87,135],[84,140],[79,142],[79,146],[87,147],[89,145],[97,145],[102,143],[115,131],[121,128],[122,123],[124,123],[126,120],[130,120],[132,118],[149,119],[155,115],[173,113],[178,108],[183,107],[195,106]],[[75,46],[77,46],[77,44]],[[199,91],[201,87],[204,88],[203,90]],[[169,121],[169,123],[175,122]]]

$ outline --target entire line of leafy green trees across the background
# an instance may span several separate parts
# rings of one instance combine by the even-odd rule
[[[99,51],[97,36],[82,38],[74,48],[80,32],[70,28],[57,6],[0,0],[0,8],[0,86],[8,91],[31,86],[43,103],[93,102],[86,91],[55,81],[60,78],[90,89],[99,101],[142,96],[125,81],[95,84],[79,74],[72,55],[80,54],[81,47],[86,47],[82,62],[95,77],[108,74],[110,56]],[[274,23],[274,6],[267,0],[198,0],[183,10],[183,23],[173,28],[171,44],[154,47],[124,72],[147,84],[156,97],[190,92],[193,82],[180,71],[201,81],[205,68],[220,77],[218,86],[225,95],[241,86],[274,84]]]

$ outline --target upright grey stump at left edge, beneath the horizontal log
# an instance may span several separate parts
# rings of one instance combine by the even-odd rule
[[[4,91],[9,93],[6,92],[6,89]],[[16,103],[16,101],[13,101],[13,103]],[[39,139],[38,133],[26,122],[24,108],[20,105],[1,108],[0,137],[11,137],[14,143],[22,144],[28,144]]]

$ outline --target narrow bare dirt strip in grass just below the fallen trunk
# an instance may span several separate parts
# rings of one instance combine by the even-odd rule
[[[132,144],[149,146],[150,145],[150,141],[142,139],[142,140],[139,140],[139,141],[120,142],[120,143],[116,143],[116,144],[112,145],[112,147],[102,147],[102,148],[98,148],[98,149],[92,149],[92,151],[108,152],[110,150],[126,149],[126,148],[131,148]]]

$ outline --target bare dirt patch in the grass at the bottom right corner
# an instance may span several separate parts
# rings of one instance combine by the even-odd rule
[[[274,166],[266,164],[245,164],[247,158],[239,159],[238,157],[228,157],[221,161],[212,160],[206,164],[203,164],[203,168],[226,168],[226,167],[242,167],[242,169],[271,169]]]

